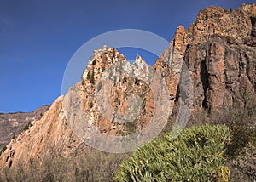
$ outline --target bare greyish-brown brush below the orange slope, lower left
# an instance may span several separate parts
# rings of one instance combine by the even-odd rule
[[[3,168],[0,181],[112,181],[126,156],[93,149],[70,158],[44,156],[43,161],[31,159],[26,166],[20,161],[12,168]]]

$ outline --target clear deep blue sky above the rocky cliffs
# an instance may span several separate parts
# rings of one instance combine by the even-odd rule
[[[61,95],[62,77],[74,52],[104,32],[141,29],[170,41],[177,26],[187,28],[199,9],[236,9],[254,2],[0,0],[0,112],[33,111],[51,104]],[[125,49],[120,52],[125,54]],[[128,59],[136,56],[126,52]]]

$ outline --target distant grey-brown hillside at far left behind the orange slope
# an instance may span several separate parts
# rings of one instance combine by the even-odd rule
[[[0,113],[0,145],[18,136],[26,124],[33,120],[40,119],[49,105],[43,105],[33,112]]]

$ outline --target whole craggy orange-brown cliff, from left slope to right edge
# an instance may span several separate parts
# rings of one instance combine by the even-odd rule
[[[84,142],[70,128],[73,123],[67,123],[67,117],[79,117],[79,112],[73,112],[72,116],[67,114],[67,111],[79,111],[78,105],[83,105],[82,109],[89,118],[84,123],[88,130],[91,124],[102,134],[113,136],[143,130],[148,118],[153,116],[155,105],[153,93],[146,84],[149,73],[160,74],[159,82],[166,85],[167,100],[170,100],[168,107],[172,113],[178,110],[181,102],[189,102],[191,111],[205,109],[210,112],[233,105],[236,101],[241,106],[245,105],[247,94],[253,94],[256,88],[255,9],[256,4],[242,4],[231,12],[216,7],[202,9],[187,30],[183,26],[177,28],[170,47],[156,60],[152,70],[140,56],[129,67],[125,56],[118,50],[108,47],[96,50],[82,81],[70,88],[67,95],[55,100],[40,120],[32,122],[31,128],[11,140],[0,156],[0,168],[15,165],[21,159],[27,162],[29,158],[43,158],[47,154],[69,156],[83,150],[86,147]],[[189,69],[192,83],[181,88],[184,64]],[[120,65],[126,73],[134,72],[136,77],[122,78],[119,69],[112,69],[112,65]],[[104,87],[104,82],[98,82],[106,70],[112,71],[108,77],[113,82],[111,87]],[[184,100],[181,89],[194,93],[193,97]],[[99,92],[110,93],[110,99],[95,97]],[[135,104],[131,100],[137,100],[131,95],[137,95],[142,101],[136,117],[129,111]],[[76,102],[77,98],[79,102]],[[108,105],[97,106],[99,100]],[[109,117],[113,114],[106,110],[110,107],[114,117]],[[122,119],[134,122],[116,122],[118,116],[124,114],[130,117]]]

